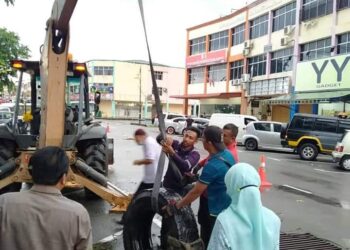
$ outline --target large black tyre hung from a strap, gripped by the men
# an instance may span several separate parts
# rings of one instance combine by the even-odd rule
[[[152,220],[155,215],[151,206],[152,190],[145,190],[137,194],[129,204],[125,213],[123,229],[124,249],[142,250],[153,248],[151,238]],[[158,198],[158,209],[168,204],[170,200],[180,200],[181,197],[172,191],[161,188]],[[163,214],[161,214],[163,215]],[[190,206],[177,210],[173,216],[163,217],[161,228],[161,249],[185,249],[168,243],[168,238],[184,243],[197,242],[197,247],[191,249],[204,249],[199,240],[196,219]]]

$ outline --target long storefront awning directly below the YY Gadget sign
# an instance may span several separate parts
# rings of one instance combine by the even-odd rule
[[[350,101],[350,91],[308,92],[283,95],[263,102],[267,104],[316,104],[320,102],[347,102]]]

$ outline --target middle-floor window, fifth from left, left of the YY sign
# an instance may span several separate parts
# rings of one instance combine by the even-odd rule
[[[278,50],[271,53],[271,73],[292,70],[293,48]]]

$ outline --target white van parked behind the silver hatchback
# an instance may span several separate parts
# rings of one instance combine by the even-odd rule
[[[212,114],[209,120],[209,126],[218,126],[223,128],[227,123],[233,123],[238,127],[237,143],[242,144],[243,135],[245,134],[248,123],[258,121],[258,118],[251,115],[237,115],[237,114]]]

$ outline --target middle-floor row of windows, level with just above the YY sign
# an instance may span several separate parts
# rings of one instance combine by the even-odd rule
[[[341,34],[338,37],[338,54],[350,53],[350,32]],[[302,44],[300,46],[300,61],[308,61],[331,56],[333,51],[331,47],[331,38],[325,38],[318,41]],[[209,66],[209,81],[223,81],[226,77],[226,64],[220,64],[220,74],[216,75],[218,66]],[[243,60],[231,63],[230,79],[240,79],[243,74]],[[280,73],[291,71],[293,67],[293,48],[286,48],[271,53],[270,73]],[[266,54],[248,58],[248,73],[251,76],[260,76],[266,74]],[[226,79],[224,79],[226,80]],[[204,82],[204,67],[190,70],[189,83]]]

